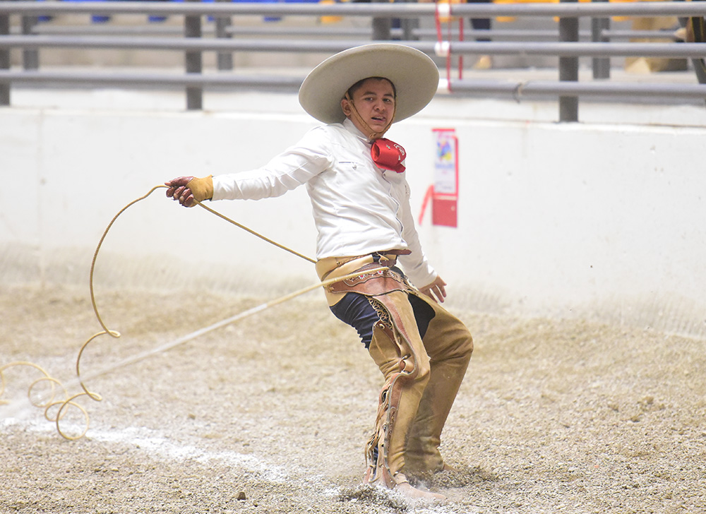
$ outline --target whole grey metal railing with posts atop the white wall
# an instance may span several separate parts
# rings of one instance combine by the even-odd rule
[[[67,33],[37,33],[32,28],[32,20],[37,16],[66,14],[90,14],[92,16],[112,16],[118,14],[139,14],[145,16],[181,16],[184,18],[183,37],[164,35],[121,35],[117,30],[100,32],[93,28],[93,34],[76,35]],[[11,34],[10,17],[19,16],[21,33]],[[205,37],[203,18],[213,17],[215,28],[210,30],[217,37]],[[282,39],[242,38],[234,39],[237,29],[231,20],[239,16],[343,16],[370,18],[371,25],[366,32],[354,30],[349,34],[340,32],[333,39]],[[513,41],[459,41],[422,40],[433,37],[435,31],[405,25],[404,30],[391,28],[393,18],[400,20],[425,20],[437,25],[443,17],[496,18],[542,17],[558,18],[558,41],[537,41],[537,37],[551,37],[549,32],[537,32],[532,40]],[[188,2],[33,2],[0,1],[0,105],[10,104],[11,85],[19,83],[43,85],[88,85],[100,87],[119,85],[129,88],[141,85],[180,86],[186,90],[186,108],[203,107],[203,90],[210,86],[230,88],[267,88],[297,90],[303,77],[286,74],[275,76],[252,76],[232,73],[229,56],[234,52],[325,52],[333,54],[343,49],[371,41],[390,40],[393,35],[409,39],[397,40],[400,44],[420,49],[441,59],[452,59],[465,55],[522,55],[558,57],[558,80],[525,80],[504,82],[491,79],[465,79],[461,73],[453,78],[445,73],[443,88],[450,94],[462,95],[511,95],[515,100],[532,98],[558,98],[559,120],[578,121],[578,100],[582,98],[635,99],[638,97],[656,100],[680,99],[684,101],[705,100],[706,85],[684,83],[617,83],[609,79],[609,59],[616,56],[668,57],[682,59],[703,59],[706,45],[688,42],[637,43],[611,42],[610,38],[630,37],[630,32],[611,35],[609,20],[614,16],[655,17],[655,16],[706,16],[706,1],[686,2],[636,2],[633,4],[611,4],[606,1],[579,3],[575,0],[561,0],[558,4],[412,4],[412,3],[371,3],[371,4],[246,4],[246,3],[201,3]],[[579,19],[592,20],[591,41],[580,41]],[[145,30],[147,30],[145,28]],[[431,32],[431,33],[430,33]],[[480,32],[480,31],[479,31]],[[510,30],[505,32],[511,32]],[[313,31],[312,31],[313,33]],[[453,32],[438,31],[447,35]],[[307,37],[307,32],[297,32]],[[583,34],[586,35],[585,33]],[[657,37],[652,33],[650,37]],[[527,34],[530,36],[530,34]],[[634,36],[634,35],[633,35]],[[644,36],[644,35],[643,35]],[[359,39],[357,39],[359,37]],[[39,52],[41,49],[138,49],[143,51],[183,52],[185,56],[184,74],[172,73],[96,73],[85,71],[42,71]],[[21,49],[24,66],[14,69],[10,66],[11,50]],[[217,52],[222,73],[203,73],[203,52]],[[578,64],[580,57],[593,58],[594,79],[579,82]],[[229,71],[228,73],[226,71]]]

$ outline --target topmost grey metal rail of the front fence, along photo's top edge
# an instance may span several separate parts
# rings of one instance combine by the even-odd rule
[[[203,2],[35,2],[0,1],[0,13],[14,14],[155,14],[161,16],[376,16],[381,18],[416,18],[433,16],[435,4],[400,3],[203,3]],[[548,4],[450,4],[453,16],[490,18],[496,16],[706,16],[706,4],[700,1],[650,1],[632,3],[548,3]]]

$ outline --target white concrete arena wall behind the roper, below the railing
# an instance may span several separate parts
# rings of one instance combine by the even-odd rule
[[[407,149],[417,214],[432,129],[459,138],[458,227],[432,226],[429,213],[419,227],[450,306],[706,338],[706,124],[483,116],[497,107],[438,97],[388,133]],[[295,95],[244,94],[212,112],[0,109],[0,287],[78,284],[88,296],[93,252],[124,205],[165,179],[262,165],[315,123]],[[303,188],[210,206],[313,256]],[[95,268],[99,298],[112,287],[274,298],[315,281],[310,263],[164,189],[116,220]]]

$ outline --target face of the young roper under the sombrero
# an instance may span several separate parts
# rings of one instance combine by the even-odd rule
[[[352,95],[360,117],[376,132],[385,130],[395,114],[395,89],[385,78],[366,78]],[[351,116],[348,100],[341,100],[343,114],[350,118],[359,131],[366,133],[356,116]]]

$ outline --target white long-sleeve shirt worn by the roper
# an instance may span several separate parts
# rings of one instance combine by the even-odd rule
[[[302,184],[318,230],[316,258],[409,249],[398,261],[417,287],[436,278],[419,243],[405,173],[378,168],[371,142],[346,119],[318,126],[264,167],[213,177],[213,200],[271,198]]]

